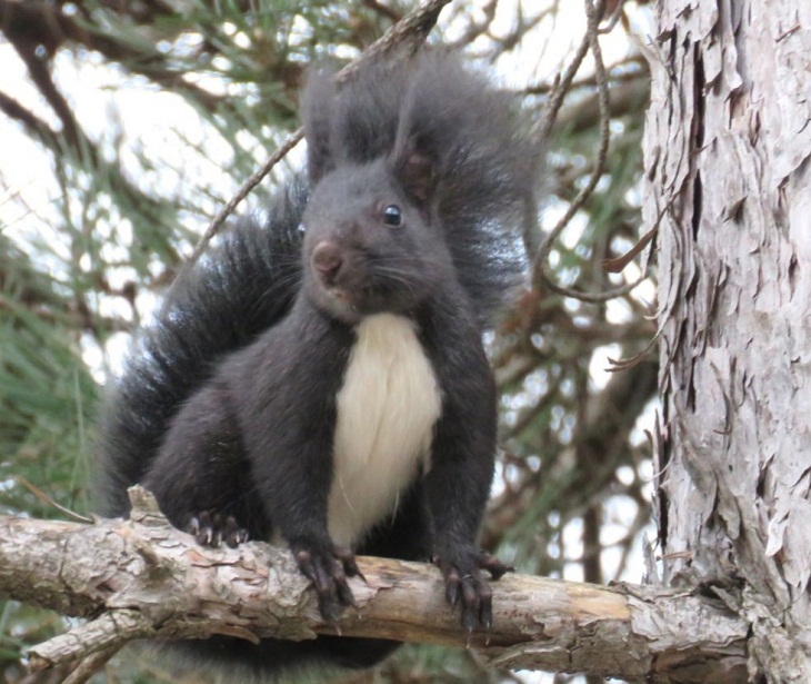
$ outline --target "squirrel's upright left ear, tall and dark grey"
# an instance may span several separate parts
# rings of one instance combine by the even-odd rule
[[[311,72],[301,92],[300,110],[307,139],[307,170],[313,186],[336,168],[331,135],[336,99],[333,73]]]

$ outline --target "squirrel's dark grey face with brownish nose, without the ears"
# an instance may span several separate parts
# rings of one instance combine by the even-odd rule
[[[312,189],[302,227],[304,291],[348,324],[411,315],[452,274],[441,231],[386,160],[328,174]]]

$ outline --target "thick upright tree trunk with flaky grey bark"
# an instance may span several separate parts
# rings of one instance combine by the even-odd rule
[[[662,0],[644,214],[659,222],[665,579],[811,682],[811,3]]]

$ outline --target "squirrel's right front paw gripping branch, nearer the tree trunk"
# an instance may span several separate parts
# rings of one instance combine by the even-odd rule
[[[433,563],[444,577],[448,603],[455,607],[461,599],[462,627],[468,632],[479,625],[490,630],[493,624],[493,592],[479,571],[485,569],[493,579],[499,579],[514,568],[504,565],[495,556],[475,549],[435,556]]]

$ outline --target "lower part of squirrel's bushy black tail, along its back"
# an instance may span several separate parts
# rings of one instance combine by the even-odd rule
[[[294,179],[261,222],[242,219],[181,272],[134,340],[98,429],[100,513],[127,515],[169,420],[219,358],[250,344],[288,311],[301,278],[299,224],[307,187]]]

